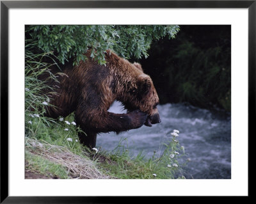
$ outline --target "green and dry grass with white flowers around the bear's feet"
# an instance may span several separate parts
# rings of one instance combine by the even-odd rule
[[[27,169],[58,178],[184,178],[183,164],[179,164],[178,159],[186,154],[172,136],[168,144],[163,144],[165,150],[161,157],[154,155],[150,159],[145,159],[143,153],[131,157],[128,147],[122,145],[124,141],[120,141],[111,152],[99,150],[96,153],[95,150],[90,151],[79,143],[77,132],[81,129],[72,124],[74,114],[55,120],[45,117],[45,109],[51,105],[48,103],[49,97],[43,90],[51,91],[51,87],[38,80],[40,73],[50,72],[49,65],[40,61],[42,56],[45,57],[47,54],[34,55],[29,51],[29,46],[27,47],[25,68]],[[52,75],[52,80],[55,79]],[[179,155],[175,152],[179,152]],[[171,158],[170,154],[175,154],[175,157]],[[172,164],[177,164],[177,167]]]

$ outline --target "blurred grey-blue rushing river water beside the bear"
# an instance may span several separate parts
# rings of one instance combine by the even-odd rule
[[[143,150],[152,157],[154,150],[161,154],[164,141],[170,140],[173,129],[180,131],[180,145],[185,146],[191,159],[186,167],[186,178],[231,178],[231,120],[220,113],[184,104],[157,106],[162,122],[116,135],[114,132],[100,134],[97,145],[104,150],[113,150],[120,139],[127,138],[129,152],[136,156]],[[109,109],[113,113],[125,113],[119,102]]]

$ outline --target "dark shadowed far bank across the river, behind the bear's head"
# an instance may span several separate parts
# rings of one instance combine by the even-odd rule
[[[152,43],[148,53],[139,62],[152,78],[161,104],[184,102],[230,112],[230,25],[180,26],[175,39]]]

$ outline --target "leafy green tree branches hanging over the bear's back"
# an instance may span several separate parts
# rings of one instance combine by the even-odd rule
[[[54,53],[61,63],[74,57],[84,59],[84,53],[92,49],[92,58],[106,63],[107,49],[123,58],[147,57],[153,40],[164,36],[175,38],[179,26],[157,25],[31,25],[26,26],[26,38],[35,40],[35,49]]]

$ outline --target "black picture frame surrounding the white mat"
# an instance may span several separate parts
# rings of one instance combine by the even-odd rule
[[[115,203],[118,200],[124,200],[120,197],[9,196],[8,12],[10,8],[248,8],[248,139],[250,139],[249,135],[252,136],[256,113],[256,1],[1,1],[1,203]],[[250,191],[248,195],[250,196]],[[125,198],[125,201],[129,201],[127,199],[133,200],[135,198]],[[154,201],[154,199],[150,198],[150,201]],[[145,198],[137,197],[136,201],[145,201]]]

